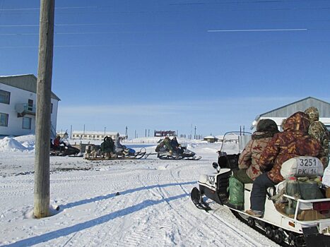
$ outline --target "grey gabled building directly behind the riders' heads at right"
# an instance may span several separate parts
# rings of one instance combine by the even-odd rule
[[[305,112],[308,107],[317,107],[319,109],[319,121],[322,121],[326,128],[330,131],[330,103],[323,100],[318,100],[314,97],[307,97],[302,100],[287,104],[283,107],[273,109],[256,117],[253,121],[251,129],[255,129],[260,119],[273,119],[278,125],[278,130],[281,131],[283,119],[288,118],[295,112]]]

